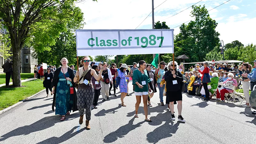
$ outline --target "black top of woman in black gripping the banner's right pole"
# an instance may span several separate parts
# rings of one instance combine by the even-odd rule
[[[181,90],[180,82],[183,81],[183,76],[180,71],[175,70],[176,77],[173,78],[172,72],[170,70],[166,71],[164,74],[164,80],[166,82],[166,91],[178,91]],[[173,84],[172,81],[177,80],[177,84]]]

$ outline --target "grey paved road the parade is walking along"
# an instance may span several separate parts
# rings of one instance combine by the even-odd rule
[[[98,109],[92,110],[92,129],[85,130],[85,122],[78,123],[78,112],[61,122],[60,116],[51,110],[52,97],[45,97],[44,92],[0,115],[0,143],[245,144],[256,141],[256,117],[250,108],[230,102],[205,102],[183,94],[182,116],[187,122],[181,123],[170,120],[167,105],[161,106],[157,95],[152,98],[153,107],[148,112],[151,123],[144,121],[142,103],[139,118],[133,117],[134,94],[125,97],[127,107],[120,106],[120,94],[104,103],[100,96]],[[177,117],[177,106],[174,111]]]

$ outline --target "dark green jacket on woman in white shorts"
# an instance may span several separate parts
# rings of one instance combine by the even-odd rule
[[[143,85],[143,88],[140,89],[136,82],[139,82],[142,85],[142,81],[146,81],[146,85]],[[145,92],[148,91],[148,83],[150,83],[150,79],[148,77],[147,70],[144,70],[144,74],[142,74],[139,69],[134,70],[132,84],[135,85],[135,92]]]

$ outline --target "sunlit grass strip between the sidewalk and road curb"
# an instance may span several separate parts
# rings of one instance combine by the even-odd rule
[[[45,89],[43,81],[36,79],[22,83],[20,88],[0,87],[0,111]]]

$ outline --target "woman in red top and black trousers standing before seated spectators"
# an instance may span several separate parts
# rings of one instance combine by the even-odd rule
[[[204,70],[201,71],[199,68],[197,68],[197,70],[200,72],[200,74],[202,74],[203,76],[201,76],[202,79],[202,83],[203,83],[203,87],[204,87],[204,91],[205,91],[205,98],[202,99],[203,101],[208,101],[210,100],[210,93],[207,87],[207,83],[211,83],[211,79],[210,79],[210,69],[208,67],[208,62],[204,61]]]

